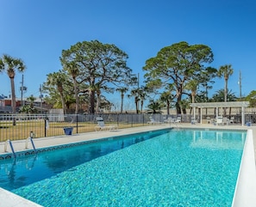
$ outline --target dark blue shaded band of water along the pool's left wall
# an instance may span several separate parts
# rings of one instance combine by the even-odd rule
[[[107,155],[115,150],[123,149],[134,143],[156,137],[168,131],[154,131],[102,142],[88,143],[72,148],[57,149],[34,156],[0,161],[0,187],[13,190],[44,180],[55,174],[64,172],[86,161]]]

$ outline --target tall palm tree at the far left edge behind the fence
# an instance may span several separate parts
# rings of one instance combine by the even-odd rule
[[[16,89],[14,81],[16,70],[22,72],[25,69],[26,66],[20,58],[12,58],[6,54],[3,55],[3,58],[0,58],[0,71],[6,70],[10,80],[12,113],[16,113]],[[16,119],[13,119],[13,125],[16,125]]]

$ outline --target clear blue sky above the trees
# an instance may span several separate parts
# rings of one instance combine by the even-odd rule
[[[24,96],[40,95],[47,74],[61,69],[61,51],[78,41],[115,44],[140,73],[148,58],[180,41],[203,44],[214,52],[211,66],[232,64],[228,89],[239,96],[256,89],[256,1],[254,0],[1,0],[0,56],[22,58],[27,65]],[[16,96],[22,75],[16,74]],[[216,79],[209,94],[224,88]],[[9,95],[9,77],[0,74],[0,94]],[[111,100],[112,99],[112,100]],[[115,102],[111,95],[109,100]]]

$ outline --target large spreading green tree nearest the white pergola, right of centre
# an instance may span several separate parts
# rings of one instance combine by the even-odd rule
[[[197,79],[213,61],[213,52],[209,46],[193,45],[179,42],[162,48],[156,57],[149,58],[143,70],[147,73],[147,84],[161,82],[162,86],[172,83],[176,90],[176,109],[181,113],[180,101],[184,94],[186,82]]]

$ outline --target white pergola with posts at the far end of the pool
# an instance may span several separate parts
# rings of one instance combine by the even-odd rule
[[[228,101],[228,102],[202,102],[202,103],[190,103],[190,107],[193,107],[194,119],[196,118],[196,108],[215,108],[216,119],[218,117],[219,108],[228,107],[240,107],[241,108],[241,125],[245,125],[245,107],[249,106],[249,101]],[[200,113],[200,120],[202,124],[202,110]]]

